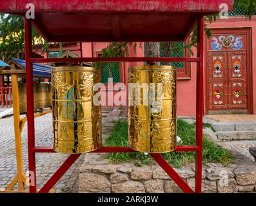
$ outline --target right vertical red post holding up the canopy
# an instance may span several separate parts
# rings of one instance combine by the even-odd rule
[[[197,20],[197,112],[196,112],[196,142],[198,151],[195,161],[195,192],[202,189],[202,111],[203,111],[203,54],[204,54],[204,17]]]

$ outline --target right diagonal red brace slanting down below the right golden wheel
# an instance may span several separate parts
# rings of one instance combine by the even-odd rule
[[[194,193],[188,184],[176,173],[176,171],[164,160],[161,154],[151,154],[153,159],[164,169],[164,171],[172,178],[172,180],[182,189],[185,193]]]

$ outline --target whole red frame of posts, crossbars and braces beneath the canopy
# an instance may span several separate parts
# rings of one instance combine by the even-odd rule
[[[54,153],[51,147],[35,147],[35,126],[34,126],[34,91],[33,91],[33,70],[32,62],[138,62],[138,61],[181,61],[181,62],[197,62],[197,115],[196,115],[196,143],[197,145],[182,145],[175,149],[175,152],[181,151],[195,151],[196,164],[195,164],[195,192],[201,192],[202,180],[202,110],[203,110],[203,35],[204,23],[203,16],[197,19],[198,28],[198,48],[197,58],[168,58],[168,57],[113,57],[113,58],[64,58],[64,59],[32,59],[32,21],[25,18],[25,55],[26,55],[26,93],[27,107],[28,107],[28,169],[34,175],[30,178],[30,192],[37,192],[36,189],[36,173],[35,173],[35,153]],[[116,31],[115,33],[118,33]],[[173,41],[173,39],[168,39]],[[126,153],[135,152],[129,147],[102,147],[94,151],[95,153]],[[80,154],[71,154],[54,175],[46,182],[39,192],[48,192],[55,183],[63,176],[63,174],[74,164],[75,160]],[[193,192],[188,184],[175,172],[175,170],[162,158],[161,154],[151,154],[155,161],[166,171],[166,173],[173,179],[184,192]]]

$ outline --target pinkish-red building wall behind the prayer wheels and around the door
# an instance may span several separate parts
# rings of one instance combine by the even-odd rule
[[[207,23],[208,28],[252,28],[252,39],[256,39],[256,17],[252,17],[251,21],[245,17],[229,17],[228,19],[218,19],[215,22]],[[204,37],[204,42],[206,42],[206,37]],[[97,43],[83,43],[83,57],[96,57],[97,52],[101,52],[103,48],[108,46],[108,42],[97,42]],[[137,50],[134,52],[134,43],[130,46],[130,57],[144,57],[144,48],[139,48],[139,42],[137,42]],[[67,48],[63,48],[66,50]],[[72,52],[80,55],[79,44],[77,48],[69,48]],[[58,50],[58,48],[54,48]],[[77,51],[76,51],[77,50]],[[256,114],[256,41],[252,41],[252,53],[251,53],[251,65],[252,65],[252,106],[253,113]],[[196,54],[196,49],[193,48],[193,53]],[[204,53],[206,53],[206,48],[204,48]],[[46,55],[46,54],[45,54]],[[143,62],[124,62],[121,63],[121,82],[127,83],[128,70],[127,68],[132,66],[143,65]],[[206,59],[204,57],[204,71],[206,70]],[[124,70],[123,70],[124,66]],[[191,66],[191,79],[190,80],[178,80],[177,81],[177,114],[179,116],[190,116],[195,115],[195,93],[196,93],[196,64],[192,63]],[[206,89],[206,72],[204,72],[204,88]],[[107,91],[113,90],[113,88],[108,88]],[[126,93],[126,90],[123,88],[122,91]],[[117,93],[118,91],[113,91]],[[205,95],[204,95],[205,98]],[[205,107],[204,107],[205,108]],[[205,109],[204,109],[205,112]]]

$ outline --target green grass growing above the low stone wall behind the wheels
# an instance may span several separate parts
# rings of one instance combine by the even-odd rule
[[[208,124],[206,124],[209,126]],[[178,145],[195,145],[195,125],[188,124],[184,120],[177,120],[177,135],[180,136],[181,141]],[[203,162],[215,162],[222,165],[228,165],[232,159],[231,153],[228,150],[215,144],[207,136],[202,138],[203,144]],[[111,135],[106,140],[108,146],[128,146],[128,124],[125,120],[118,120],[113,126]],[[174,167],[181,167],[190,162],[195,161],[195,152],[182,153],[164,153],[162,156],[166,161]],[[150,155],[144,153],[110,153],[108,159],[113,163],[130,162],[135,160],[135,165],[152,164],[153,159]]]

